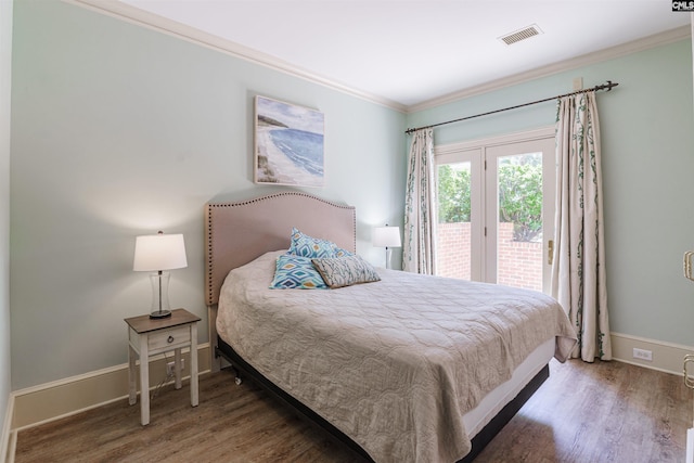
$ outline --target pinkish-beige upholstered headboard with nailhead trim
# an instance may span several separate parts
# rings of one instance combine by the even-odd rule
[[[205,207],[205,301],[213,306],[227,274],[269,250],[288,249],[292,227],[356,252],[352,206],[284,192]]]

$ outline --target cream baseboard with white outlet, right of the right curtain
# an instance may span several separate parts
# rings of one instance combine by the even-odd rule
[[[647,339],[628,334],[612,333],[611,339],[612,357],[614,360],[679,376],[683,374],[684,356],[694,353],[694,347],[691,346]],[[653,352],[653,360],[634,359],[634,348],[650,350]]]

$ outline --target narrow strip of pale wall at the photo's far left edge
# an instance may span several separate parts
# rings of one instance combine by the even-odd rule
[[[12,2],[0,1],[0,114],[10,114]],[[10,118],[0,118],[0,429],[10,397]],[[3,448],[0,445],[0,449]],[[0,461],[3,459],[0,454]]]

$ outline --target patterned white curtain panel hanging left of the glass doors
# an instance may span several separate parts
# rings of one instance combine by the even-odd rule
[[[436,183],[434,129],[412,136],[404,198],[402,270],[434,274],[436,262]]]

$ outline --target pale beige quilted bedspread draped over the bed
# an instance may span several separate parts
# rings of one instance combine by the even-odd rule
[[[542,342],[575,332],[541,293],[378,269],[339,290],[270,290],[268,253],[229,273],[217,330],[248,363],[376,462],[454,462],[462,415]]]

